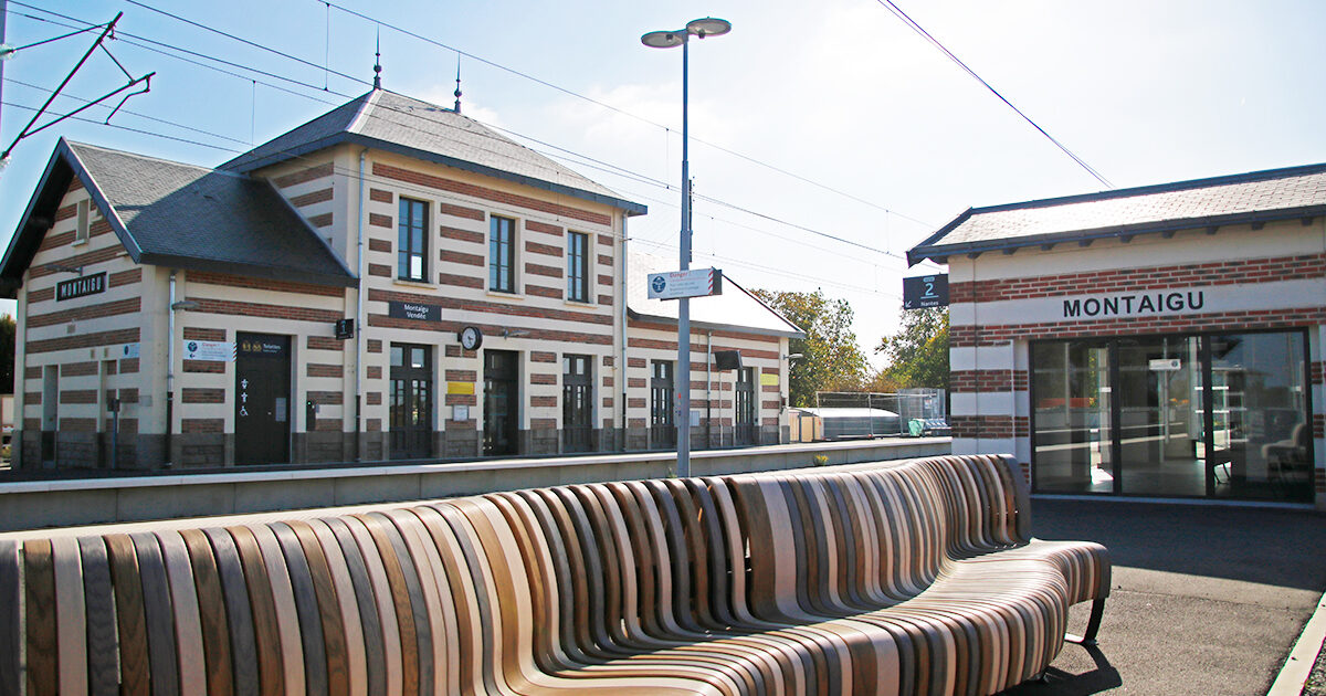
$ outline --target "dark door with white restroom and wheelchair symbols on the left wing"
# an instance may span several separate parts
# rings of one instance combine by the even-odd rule
[[[290,460],[290,337],[235,334],[235,463]]]

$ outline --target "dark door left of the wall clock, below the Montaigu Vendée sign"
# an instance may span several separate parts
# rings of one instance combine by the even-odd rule
[[[432,350],[391,345],[391,459],[432,453]]]

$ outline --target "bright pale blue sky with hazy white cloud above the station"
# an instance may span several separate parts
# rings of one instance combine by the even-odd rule
[[[1113,187],[1326,160],[1326,3],[895,3]],[[463,53],[464,114],[648,205],[631,244],[676,257],[682,52],[639,37],[704,16],[733,29],[690,50],[692,266],[846,298],[876,366],[902,278],[941,272],[908,269],[908,248],[968,207],[1106,188],[876,0],[8,0],[4,41],[86,27],[52,12],[123,12],[110,54],[155,76],[110,126],[110,109],[94,107],[13,148],[0,171],[5,244],[60,137],[215,166],[367,91],[381,41],[383,87],[444,106]],[[0,147],[93,38],[3,64]],[[125,81],[98,52],[65,93],[94,98]]]

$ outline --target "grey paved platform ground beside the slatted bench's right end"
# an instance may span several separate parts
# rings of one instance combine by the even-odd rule
[[[1040,538],[1099,541],[1114,583],[1099,647],[1065,644],[1005,696],[1261,695],[1326,590],[1326,514],[1036,500]],[[1081,632],[1089,605],[1073,612]]]

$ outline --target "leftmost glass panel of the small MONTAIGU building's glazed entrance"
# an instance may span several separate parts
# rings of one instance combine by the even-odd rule
[[[1114,491],[1110,346],[1054,341],[1032,346],[1036,488]]]

